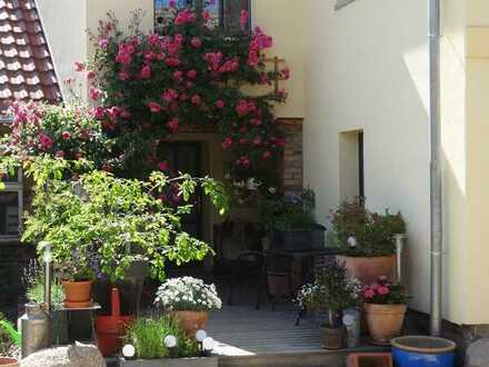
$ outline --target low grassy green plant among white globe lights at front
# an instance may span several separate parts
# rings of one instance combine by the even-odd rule
[[[198,356],[197,343],[188,338],[179,321],[170,316],[138,318],[127,330],[126,340],[134,346],[138,358],[166,358],[169,357],[169,351],[164,346],[164,338],[169,335],[177,338],[180,357]]]

